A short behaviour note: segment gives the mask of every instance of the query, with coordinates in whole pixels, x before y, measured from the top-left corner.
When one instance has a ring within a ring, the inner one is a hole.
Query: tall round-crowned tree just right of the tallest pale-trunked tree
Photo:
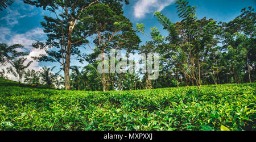
[[[132,29],[132,23],[123,16],[122,11],[116,11],[108,5],[98,3],[90,6],[85,14],[90,17],[83,19],[82,22],[88,24],[88,30],[94,34],[93,43],[96,47],[93,49],[93,55],[101,53],[102,61],[105,60],[105,56],[108,56],[111,49],[132,51],[141,42]],[[110,78],[110,72],[107,75],[105,72],[101,73],[103,91],[109,89]]]

